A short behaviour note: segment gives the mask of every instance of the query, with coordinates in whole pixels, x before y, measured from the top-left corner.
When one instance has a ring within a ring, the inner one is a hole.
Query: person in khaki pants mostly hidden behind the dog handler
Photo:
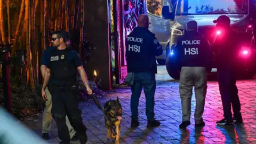
[[[55,39],[55,38],[53,38]],[[53,40],[52,39],[52,40]],[[42,73],[42,77],[44,78],[44,74],[45,71],[47,69],[47,66],[49,65],[48,59],[51,58],[51,51],[57,49],[54,46],[50,46],[48,47],[43,55],[42,55],[42,60],[41,60],[41,73]],[[51,109],[52,109],[52,95],[51,95],[51,90],[50,90],[50,86],[51,85],[51,78],[49,79],[48,85],[45,89],[45,93],[46,93],[46,101],[45,101],[45,108],[44,108],[44,112],[43,112],[43,126],[42,126],[42,137],[45,140],[49,140],[50,136],[49,136],[49,132],[51,130],[52,127],[52,114],[51,114]],[[78,140],[78,134],[76,133],[76,131],[74,130],[74,128],[70,125],[70,122],[68,120],[68,116],[66,116],[66,124],[68,126],[68,131],[69,131],[69,136],[71,138],[71,141],[74,140]]]

